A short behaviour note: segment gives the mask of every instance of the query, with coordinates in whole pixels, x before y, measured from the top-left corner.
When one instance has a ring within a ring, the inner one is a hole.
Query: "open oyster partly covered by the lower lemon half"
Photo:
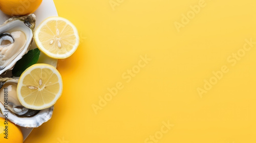
[[[50,120],[53,106],[44,110],[32,110],[24,107],[17,98],[17,79],[0,78],[0,111],[14,124],[35,128]]]

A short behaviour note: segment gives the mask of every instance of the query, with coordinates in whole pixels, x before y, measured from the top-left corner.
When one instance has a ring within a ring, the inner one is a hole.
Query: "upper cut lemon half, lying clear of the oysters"
[[[62,17],[50,17],[35,30],[39,50],[54,59],[70,57],[79,45],[76,27]]]

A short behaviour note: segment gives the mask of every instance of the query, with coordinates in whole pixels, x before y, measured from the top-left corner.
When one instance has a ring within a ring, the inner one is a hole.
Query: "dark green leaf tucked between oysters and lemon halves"
[[[18,60],[12,69],[12,75],[15,77],[20,77],[23,71],[25,71],[28,67],[35,64],[39,59],[40,51],[39,49],[30,50],[27,54],[25,54],[22,59]]]

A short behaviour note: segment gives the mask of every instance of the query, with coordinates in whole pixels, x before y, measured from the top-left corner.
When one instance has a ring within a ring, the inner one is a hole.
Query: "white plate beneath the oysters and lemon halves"
[[[34,12],[34,14],[36,16],[36,26],[38,26],[40,24],[40,22],[45,20],[47,17],[58,16],[58,13],[56,11],[53,0],[44,0],[44,1],[42,1],[42,4]],[[4,23],[9,18],[10,18],[9,16],[5,15],[2,11],[0,11],[0,23],[1,24]],[[37,46],[36,46],[35,42],[33,41],[30,49],[35,49],[36,47]],[[51,64],[55,67],[57,66],[57,60],[56,59],[49,58],[49,57],[47,57],[46,55],[44,55],[42,53],[40,54],[38,63],[47,63],[47,64]],[[2,114],[0,114],[0,116],[3,117]],[[24,140],[28,137],[28,135],[33,130],[33,128],[23,128],[23,127],[20,127],[20,129],[22,129]]]

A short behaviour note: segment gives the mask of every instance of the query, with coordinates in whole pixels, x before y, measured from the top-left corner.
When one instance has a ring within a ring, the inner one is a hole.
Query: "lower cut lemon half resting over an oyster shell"
[[[34,64],[20,76],[17,97],[26,108],[42,110],[56,103],[62,93],[58,70],[49,64]]]

